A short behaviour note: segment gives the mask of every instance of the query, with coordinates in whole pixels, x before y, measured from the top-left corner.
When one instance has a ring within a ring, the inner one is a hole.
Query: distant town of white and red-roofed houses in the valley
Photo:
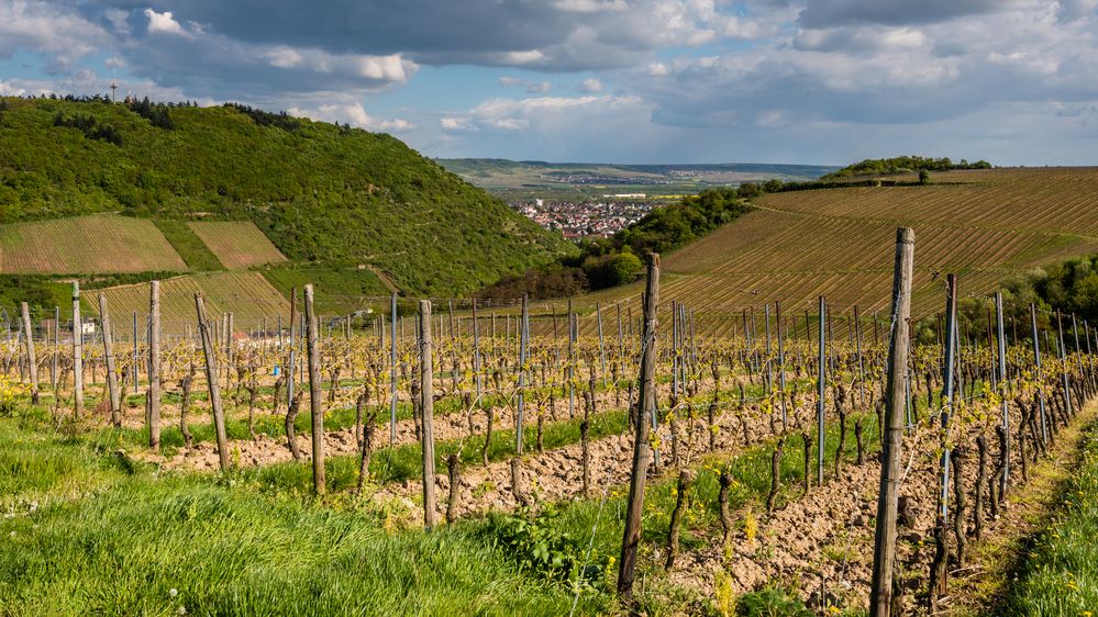
[[[640,221],[655,204],[644,193],[602,195],[599,200],[512,202],[511,207],[566,238],[609,237]]]

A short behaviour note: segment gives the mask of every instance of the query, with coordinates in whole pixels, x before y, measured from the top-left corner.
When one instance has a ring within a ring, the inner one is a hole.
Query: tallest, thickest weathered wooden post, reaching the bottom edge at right
[[[892,324],[888,345],[888,378],[885,386],[885,442],[881,452],[880,489],[877,494],[877,528],[874,537],[873,582],[869,591],[870,617],[890,617],[892,607],[896,517],[903,468],[900,448],[903,440],[903,412],[907,400],[905,377],[908,373],[913,263],[914,232],[909,227],[901,227],[896,232]]]

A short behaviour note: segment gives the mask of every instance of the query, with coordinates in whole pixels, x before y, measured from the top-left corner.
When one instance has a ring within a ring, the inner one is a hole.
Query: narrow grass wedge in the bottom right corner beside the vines
[[[1011,586],[1007,615],[1098,614],[1098,423],[1084,431],[1082,463],[1055,512]]]

